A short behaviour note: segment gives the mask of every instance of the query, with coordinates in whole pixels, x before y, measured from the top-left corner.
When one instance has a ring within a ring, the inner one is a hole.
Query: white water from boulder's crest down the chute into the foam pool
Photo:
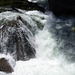
[[[3,14],[6,16],[3,16]],[[23,14],[4,12],[2,13],[2,18],[11,20],[13,18],[15,19],[17,15],[20,15],[31,25],[36,26],[35,21],[37,21],[43,26],[42,30],[37,27],[35,33],[36,58],[28,61],[17,61],[13,73],[6,74],[0,72],[0,75],[75,75],[75,63],[66,61],[65,56],[58,50],[55,37],[49,31],[52,20],[54,19],[53,15],[51,13],[46,15],[39,11],[24,11]]]

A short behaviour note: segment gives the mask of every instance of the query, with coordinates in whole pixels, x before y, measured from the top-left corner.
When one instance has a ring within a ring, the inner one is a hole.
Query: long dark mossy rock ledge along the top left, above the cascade
[[[23,10],[39,10],[44,12],[45,9],[37,3],[29,2],[28,0],[1,0],[0,11],[15,10],[15,8]],[[17,11],[17,10],[15,10]]]

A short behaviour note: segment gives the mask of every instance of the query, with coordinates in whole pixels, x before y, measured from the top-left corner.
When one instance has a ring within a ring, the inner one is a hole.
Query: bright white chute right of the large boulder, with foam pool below
[[[35,11],[34,11],[35,12]],[[31,12],[27,12],[29,15]],[[36,14],[37,16],[40,13]],[[41,15],[40,15],[41,16]],[[40,17],[39,16],[39,17]],[[43,21],[43,30],[37,31],[36,58],[29,61],[17,61],[13,75],[75,75],[75,64],[68,63],[63,54],[59,53],[57,42],[53,34],[49,32],[48,25],[53,19],[52,15],[43,15],[46,19]],[[35,18],[39,20],[38,18]]]

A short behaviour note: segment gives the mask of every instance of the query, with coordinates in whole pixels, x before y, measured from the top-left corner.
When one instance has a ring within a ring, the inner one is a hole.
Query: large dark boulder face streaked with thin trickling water
[[[0,52],[10,53],[16,60],[28,60],[35,57],[34,36],[27,22],[20,16],[16,20],[6,20],[0,27]]]

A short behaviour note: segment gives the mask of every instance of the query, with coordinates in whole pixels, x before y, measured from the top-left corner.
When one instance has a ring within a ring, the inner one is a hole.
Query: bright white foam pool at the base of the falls
[[[16,64],[12,75],[75,75],[75,65],[63,65],[59,60],[31,59]]]

